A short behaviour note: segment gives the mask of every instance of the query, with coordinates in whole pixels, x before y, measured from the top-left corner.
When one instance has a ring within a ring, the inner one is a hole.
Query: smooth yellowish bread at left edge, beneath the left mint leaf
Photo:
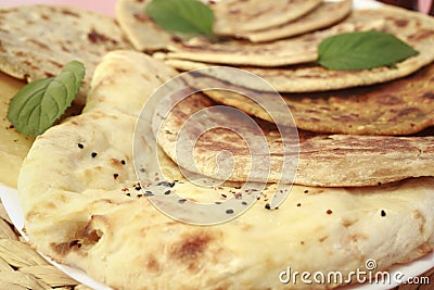
[[[24,86],[24,81],[0,73],[0,184],[16,187],[18,172],[34,138],[18,134],[8,121],[11,98]]]

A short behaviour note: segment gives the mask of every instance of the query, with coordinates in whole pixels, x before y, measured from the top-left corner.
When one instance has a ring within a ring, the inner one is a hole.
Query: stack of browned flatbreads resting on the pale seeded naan
[[[241,9],[243,5],[248,9]],[[140,13],[142,9],[143,3],[130,0],[122,0],[117,5],[118,21],[137,49],[152,51],[156,47],[164,48],[167,52],[154,55],[181,71],[216,64],[238,66],[261,77],[282,93],[295,125],[301,129],[296,184],[372,186],[406,177],[433,175],[434,168],[430,165],[432,137],[409,137],[432,126],[434,122],[433,99],[430,97],[433,93],[434,70],[431,65],[434,60],[432,17],[388,5],[353,10],[352,1],[345,0],[278,1],[272,4],[253,0],[242,3],[218,1],[212,4],[216,15],[214,30],[226,38],[218,41],[193,38],[187,42],[167,38],[158,46],[151,47],[141,39],[143,34],[139,31],[159,28],[144,21],[145,16]],[[288,9],[292,13],[288,13]],[[371,29],[397,36],[417,49],[419,54],[394,67],[361,71],[332,71],[315,63],[318,43],[326,37]],[[267,122],[279,123],[248,96],[237,93],[243,91],[254,94],[264,90],[257,83],[218,67],[202,70],[197,74],[202,76],[194,78],[191,86],[227,90],[207,90],[195,99],[186,100],[183,105],[179,105],[180,113],[169,116],[169,125],[158,142],[173,160],[176,161],[176,133],[180,131],[190,115],[213,106],[213,101]],[[381,85],[372,86],[374,84]],[[273,98],[272,91],[260,93],[264,99]],[[284,123],[288,118],[282,116],[280,119]],[[277,168],[282,165],[284,154],[281,141],[275,134],[276,128],[266,131],[273,156],[271,173],[258,177],[256,181],[276,182],[281,178]],[[212,175],[217,165],[212,164],[210,156],[220,147],[231,149],[231,152],[235,150],[239,164],[245,164],[250,152],[238,150],[245,143],[234,142],[233,136],[221,138],[224,133],[216,136],[220,138],[213,139],[209,136],[212,140],[204,142],[201,150],[197,149],[201,157],[196,159],[197,164],[192,164],[188,169]],[[219,146],[216,147],[216,142]],[[367,168],[369,162],[371,166]],[[240,165],[240,169],[235,168],[229,177],[230,180],[246,180],[250,168]],[[334,174],[330,175],[330,172]]]

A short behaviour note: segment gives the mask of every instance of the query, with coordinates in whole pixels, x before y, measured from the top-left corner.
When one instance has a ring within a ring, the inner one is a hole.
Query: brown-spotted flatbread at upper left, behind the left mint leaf
[[[82,62],[86,76],[79,104],[85,103],[101,56],[130,48],[112,17],[50,5],[0,9],[0,70],[27,81],[56,75],[72,60]]]

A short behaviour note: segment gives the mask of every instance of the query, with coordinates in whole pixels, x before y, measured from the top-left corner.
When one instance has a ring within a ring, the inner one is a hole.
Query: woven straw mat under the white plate
[[[434,268],[421,275],[430,285],[405,285],[394,290],[433,290]],[[34,251],[12,225],[0,203],[0,289],[8,290],[89,290],[55,268]]]

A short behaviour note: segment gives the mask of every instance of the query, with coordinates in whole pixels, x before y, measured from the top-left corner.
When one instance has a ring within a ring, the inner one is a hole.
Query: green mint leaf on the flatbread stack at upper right
[[[391,34],[344,33],[328,37],[319,43],[318,63],[330,70],[370,70],[394,65],[418,53]]]

